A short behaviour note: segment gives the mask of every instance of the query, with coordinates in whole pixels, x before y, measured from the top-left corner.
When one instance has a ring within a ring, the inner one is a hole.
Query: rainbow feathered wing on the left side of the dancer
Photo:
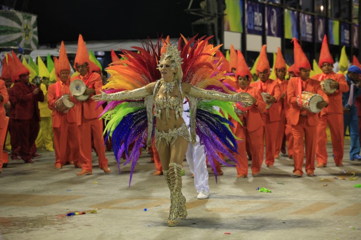
[[[143,47],[133,47],[135,51],[122,50],[121,59],[107,68],[111,77],[103,87],[105,93],[116,93],[143,87],[160,78],[157,70],[161,51],[161,38],[153,45],[148,40]],[[102,104],[104,102],[99,102]],[[146,103],[142,101],[111,101],[104,108],[101,117],[106,121],[106,139],[112,139],[113,151],[120,172],[120,159],[125,154],[124,165],[132,163],[129,185],[140,149],[146,145],[148,119]],[[150,132],[151,133],[151,132]]]

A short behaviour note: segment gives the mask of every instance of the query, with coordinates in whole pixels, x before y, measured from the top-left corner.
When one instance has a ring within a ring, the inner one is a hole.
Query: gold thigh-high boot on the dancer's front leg
[[[171,208],[169,210],[168,226],[174,227],[178,225],[178,217],[184,219],[186,216],[185,198],[181,193],[181,165],[171,163],[169,165],[169,176],[171,180]]]

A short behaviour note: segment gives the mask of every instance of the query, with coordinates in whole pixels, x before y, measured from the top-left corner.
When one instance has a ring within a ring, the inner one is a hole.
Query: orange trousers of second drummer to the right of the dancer
[[[266,165],[273,166],[274,153],[276,151],[277,132],[280,121],[271,122],[270,114],[265,114],[265,115],[266,115],[266,125],[265,125]],[[253,155],[252,155],[252,159],[253,159]]]

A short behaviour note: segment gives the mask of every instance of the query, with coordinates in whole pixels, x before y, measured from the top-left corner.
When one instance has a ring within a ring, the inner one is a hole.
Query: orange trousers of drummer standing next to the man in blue
[[[327,164],[327,124],[330,126],[333,158],[336,165],[342,164],[344,156],[344,119],[343,114],[324,114],[319,118],[317,126],[316,161]]]

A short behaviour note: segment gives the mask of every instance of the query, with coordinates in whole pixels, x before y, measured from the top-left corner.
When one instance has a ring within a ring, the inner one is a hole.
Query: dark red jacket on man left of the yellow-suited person
[[[33,91],[37,88],[32,83],[16,82],[12,87],[15,104],[15,119],[30,120],[35,114],[38,121],[40,121],[40,112],[38,103],[44,102],[43,91],[40,90],[37,95]]]

